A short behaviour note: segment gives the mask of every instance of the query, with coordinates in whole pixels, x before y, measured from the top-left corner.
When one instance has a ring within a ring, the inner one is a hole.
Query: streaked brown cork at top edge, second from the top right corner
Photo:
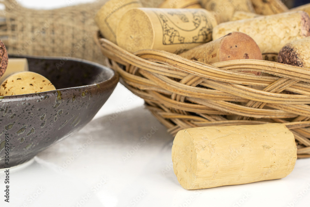
[[[281,0],[251,0],[255,13],[261,15],[272,15],[288,11]]]

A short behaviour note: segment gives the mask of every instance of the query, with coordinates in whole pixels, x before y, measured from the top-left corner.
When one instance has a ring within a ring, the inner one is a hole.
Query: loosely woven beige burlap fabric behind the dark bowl
[[[9,54],[77,57],[105,65],[93,34],[98,30],[94,16],[108,0],[35,10],[15,0],[0,0],[0,39]],[[162,0],[142,0],[145,7],[156,7]]]

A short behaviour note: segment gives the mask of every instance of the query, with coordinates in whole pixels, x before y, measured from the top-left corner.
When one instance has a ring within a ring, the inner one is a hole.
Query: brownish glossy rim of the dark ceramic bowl
[[[44,59],[48,59],[48,60],[70,60],[70,61],[77,61],[77,62],[82,62],[85,64],[89,64],[89,65],[94,65],[97,66],[103,70],[108,70],[110,72],[112,72],[111,77],[109,77],[108,79],[98,82],[98,83],[93,83],[90,85],[83,85],[83,86],[78,86],[78,87],[70,87],[70,88],[61,88],[61,89],[56,89],[56,90],[51,90],[51,91],[45,91],[45,92],[37,92],[37,93],[26,93],[26,94],[20,94],[20,95],[12,95],[12,96],[0,96],[0,103],[5,101],[5,100],[10,100],[10,101],[20,101],[20,99],[23,98],[29,98],[29,95],[54,95],[57,94],[57,91],[60,92],[64,92],[68,89],[81,89],[81,88],[93,88],[94,86],[99,86],[100,91],[105,91],[108,90],[109,88],[112,88],[114,86],[116,86],[116,84],[118,83],[119,80],[119,75],[110,67],[105,66],[105,65],[101,65],[99,63],[95,63],[92,61],[87,61],[84,59],[80,59],[80,58],[75,58],[75,57],[61,57],[61,56],[33,56],[33,55],[14,55],[14,54],[9,54],[9,58],[34,58],[34,59],[39,59],[39,60],[44,60]],[[105,89],[105,90],[102,90]],[[27,95],[27,97],[25,97],[25,95]]]

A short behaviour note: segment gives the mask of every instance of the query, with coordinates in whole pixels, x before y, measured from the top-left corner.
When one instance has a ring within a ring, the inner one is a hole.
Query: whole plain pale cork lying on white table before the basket
[[[294,135],[282,124],[184,129],[172,146],[175,175],[188,190],[284,178],[296,159]]]

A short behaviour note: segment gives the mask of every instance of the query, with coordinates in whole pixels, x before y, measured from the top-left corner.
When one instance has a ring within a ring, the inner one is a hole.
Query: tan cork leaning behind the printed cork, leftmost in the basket
[[[116,30],[122,15],[131,8],[143,7],[139,0],[110,0],[95,16],[95,22],[104,38],[116,44]]]

